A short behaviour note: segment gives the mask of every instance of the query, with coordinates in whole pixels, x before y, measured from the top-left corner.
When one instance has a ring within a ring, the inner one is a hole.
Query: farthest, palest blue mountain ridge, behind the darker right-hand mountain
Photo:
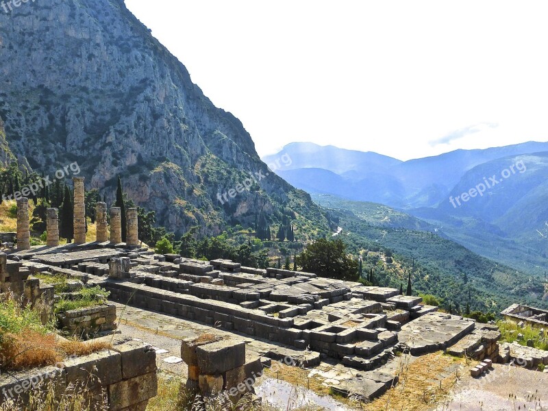
[[[511,155],[548,151],[548,142],[484,150],[456,150],[434,157],[401,162],[377,153],[291,143],[265,162],[282,155],[290,166],[276,170],[290,184],[310,192],[338,195],[412,209],[433,207],[447,199],[461,177],[475,166]],[[325,171],[336,174],[325,179]]]

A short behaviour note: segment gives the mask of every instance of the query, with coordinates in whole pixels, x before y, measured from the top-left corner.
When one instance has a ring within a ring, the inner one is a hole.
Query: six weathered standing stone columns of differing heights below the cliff
[[[74,242],[86,242],[86,205],[84,202],[84,177],[74,177]],[[47,216],[47,246],[59,245],[59,217],[57,208],[48,208]],[[107,205],[99,202],[95,209],[97,221],[97,242],[108,241]],[[127,236],[126,245],[138,246],[138,216],[136,208],[129,208],[126,213]],[[122,212],[119,207],[110,208],[110,243],[122,242]],[[29,199],[17,200],[17,249],[30,249]]]

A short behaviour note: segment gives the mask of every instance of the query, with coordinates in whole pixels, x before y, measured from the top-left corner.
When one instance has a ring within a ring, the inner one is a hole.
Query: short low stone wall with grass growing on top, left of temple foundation
[[[57,314],[58,327],[68,336],[88,336],[116,329],[116,306],[103,304],[97,307],[70,310]]]

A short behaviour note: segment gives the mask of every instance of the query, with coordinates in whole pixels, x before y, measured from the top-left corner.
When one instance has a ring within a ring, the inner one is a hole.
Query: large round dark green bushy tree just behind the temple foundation
[[[358,262],[347,255],[346,245],[340,238],[320,238],[312,242],[297,257],[297,262],[303,271],[315,273],[320,277],[349,281],[358,279]]]

